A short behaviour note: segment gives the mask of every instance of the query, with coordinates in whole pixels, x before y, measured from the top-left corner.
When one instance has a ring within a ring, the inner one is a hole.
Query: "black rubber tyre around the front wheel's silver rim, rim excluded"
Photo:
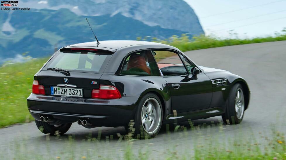
[[[245,109],[244,106],[242,109],[243,110],[242,111],[242,117],[238,118],[237,113],[235,111],[235,97],[236,97],[238,90],[241,90],[242,95],[243,95],[243,88],[242,88],[241,84],[236,83],[230,91],[228,101],[227,101],[226,111],[222,115],[223,122],[225,124],[231,124],[231,125],[239,124],[242,121],[242,118],[244,116],[244,109]],[[244,95],[242,96],[242,100],[243,100],[243,105],[245,105]]]

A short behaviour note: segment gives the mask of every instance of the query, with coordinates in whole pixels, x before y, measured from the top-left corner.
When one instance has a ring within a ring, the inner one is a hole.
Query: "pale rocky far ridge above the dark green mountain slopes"
[[[23,3],[23,4],[22,4]],[[24,0],[20,5],[32,8],[68,8],[77,15],[116,15],[190,34],[203,34],[194,10],[183,0]]]

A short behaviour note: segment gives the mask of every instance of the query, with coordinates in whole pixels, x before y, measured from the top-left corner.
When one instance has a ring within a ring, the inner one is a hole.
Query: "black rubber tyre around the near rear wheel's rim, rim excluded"
[[[158,122],[158,125],[156,125],[156,123],[154,122],[155,125],[158,126],[158,127],[155,127],[156,129],[154,129],[154,133],[152,133],[152,134],[149,134],[149,133],[147,133],[147,131],[145,131],[145,129],[143,128],[142,119],[141,119],[142,118],[141,114],[142,114],[143,105],[150,98],[156,99],[156,101],[159,104],[160,111],[161,111],[161,117],[157,119],[157,120],[160,119],[160,121]],[[144,95],[142,97],[141,101],[139,102],[139,105],[137,107],[137,111],[135,112],[135,117],[134,117],[135,133],[134,133],[134,136],[137,137],[137,138],[142,138],[142,139],[146,138],[146,136],[149,137],[149,138],[155,137],[159,133],[159,131],[161,129],[162,121],[163,121],[163,109],[162,109],[162,104],[161,104],[161,101],[160,101],[159,97],[157,95],[153,94],[153,93],[149,93],[147,95]]]

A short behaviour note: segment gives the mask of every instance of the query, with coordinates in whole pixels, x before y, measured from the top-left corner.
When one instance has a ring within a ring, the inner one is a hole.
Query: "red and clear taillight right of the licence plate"
[[[92,90],[91,97],[96,99],[118,99],[121,98],[121,94],[114,86],[100,85],[99,89]]]

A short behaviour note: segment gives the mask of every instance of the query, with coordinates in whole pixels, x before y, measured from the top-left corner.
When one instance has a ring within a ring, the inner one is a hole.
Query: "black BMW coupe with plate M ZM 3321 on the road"
[[[249,99],[242,77],[198,66],[175,47],[116,40],[59,49],[35,74],[27,106],[45,134],[134,120],[135,134],[154,137],[175,121],[221,115],[238,124]]]

